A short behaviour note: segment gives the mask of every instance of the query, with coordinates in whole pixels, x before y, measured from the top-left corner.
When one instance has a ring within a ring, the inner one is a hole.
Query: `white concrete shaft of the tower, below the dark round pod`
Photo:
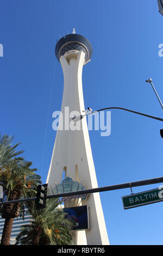
[[[69,40],[72,44],[71,39]],[[64,121],[63,130],[58,129],[55,138],[46,181],[48,188],[54,187],[54,182],[57,184],[61,182],[63,172],[66,177],[74,178],[76,181],[82,179],[82,182],[85,181],[89,188],[98,187],[86,118],[77,123],[72,121],[74,111],[77,111],[77,114],[82,114],[85,109],[82,71],[83,65],[88,60],[86,54],[80,48],[78,50],[75,48],[59,56],[64,73],[64,93],[61,106],[63,119],[60,115],[59,127],[62,126],[62,120],[66,120],[66,123]],[[70,113],[71,115],[69,115]],[[76,245],[109,245],[99,193],[90,194],[85,204],[89,205],[90,230],[76,232]]]

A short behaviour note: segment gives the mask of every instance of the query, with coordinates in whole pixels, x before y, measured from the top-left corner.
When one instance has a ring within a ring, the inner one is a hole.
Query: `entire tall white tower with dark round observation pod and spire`
[[[48,191],[52,194],[96,188],[98,184],[86,118],[77,122],[72,120],[74,115],[82,114],[85,109],[82,71],[91,60],[92,46],[73,29],[72,34],[57,42],[55,56],[64,73],[64,92],[60,117],[55,119],[59,124],[46,181]],[[109,245],[99,193],[69,198],[64,201],[64,209],[70,218],[75,216],[74,245]]]

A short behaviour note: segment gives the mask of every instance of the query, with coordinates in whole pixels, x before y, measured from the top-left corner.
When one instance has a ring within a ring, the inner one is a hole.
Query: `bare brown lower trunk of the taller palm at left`
[[[9,245],[10,244],[10,236],[11,236],[13,221],[14,221],[14,218],[5,218],[2,239],[1,239],[1,245]]]

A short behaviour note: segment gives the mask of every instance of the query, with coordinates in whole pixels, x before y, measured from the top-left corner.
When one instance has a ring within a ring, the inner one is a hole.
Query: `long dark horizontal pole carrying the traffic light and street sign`
[[[103,191],[120,190],[122,188],[145,186],[145,185],[151,185],[151,184],[156,184],[161,182],[163,182],[163,177],[148,179],[148,180],[133,181],[133,182],[123,183],[118,185],[111,185],[106,187],[90,188],[89,190],[80,190],[80,191],[66,192],[66,193],[60,193],[60,194],[52,194],[47,196],[46,198],[51,199],[51,198],[59,198],[59,197],[70,197],[70,196],[76,196],[78,194],[90,194],[90,193],[103,192]],[[16,203],[33,201],[33,200],[36,200],[36,197],[12,200],[8,202],[1,202],[0,205],[16,204]]]

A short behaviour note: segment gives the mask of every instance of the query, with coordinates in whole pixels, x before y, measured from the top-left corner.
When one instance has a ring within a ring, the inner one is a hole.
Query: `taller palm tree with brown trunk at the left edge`
[[[35,174],[36,169],[30,169],[32,162],[21,159],[11,159],[5,161],[0,168],[0,184],[6,191],[7,200],[33,197],[37,185],[41,184],[40,176]],[[12,224],[14,218],[21,214],[21,205],[6,204],[2,206],[1,215],[5,218],[2,233],[1,245],[9,245]]]

